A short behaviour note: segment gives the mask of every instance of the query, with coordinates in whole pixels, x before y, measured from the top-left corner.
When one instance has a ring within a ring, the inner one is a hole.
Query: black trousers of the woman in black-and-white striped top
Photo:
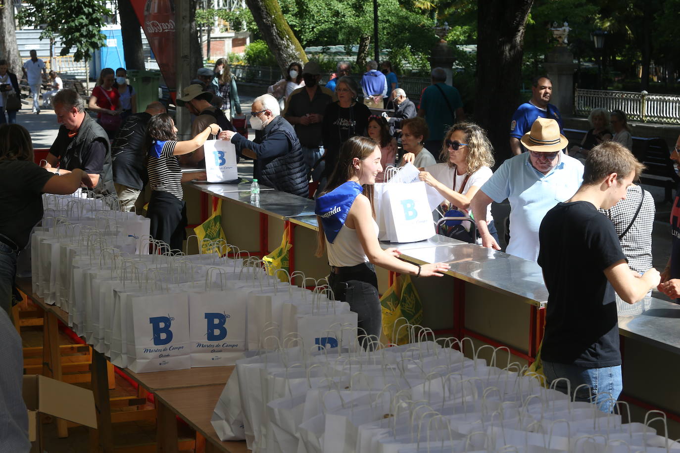
[[[170,250],[182,250],[186,238],[186,203],[169,192],[152,191],[146,217],[151,219],[150,234],[169,244]],[[167,252],[163,247],[163,253]]]

